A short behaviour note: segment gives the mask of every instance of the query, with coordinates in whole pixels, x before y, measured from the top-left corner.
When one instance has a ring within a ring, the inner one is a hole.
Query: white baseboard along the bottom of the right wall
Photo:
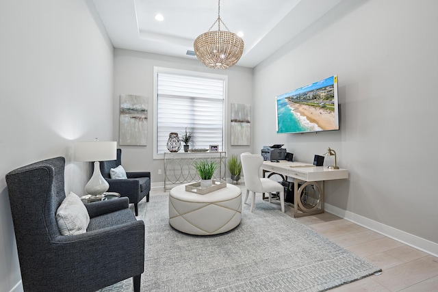
[[[438,256],[438,243],[423,239],[421,237],[417,237],[416,235],[411,235],[410,233],[404,232],[391,226],[387,226],[380,222],[376,222],[367,217],[357,215],[350,211],[340,209],[331,204],[324,204],[324,208],[325,211],[328,213],[332,213],[333,215],[337,215],[350,222],[373,230],[376,233],[380,233],[381,235],[385,235],[386,237],[410,245],[411,247],[416,248],[417,250],[421,250],[422,252],[426,252],[432,256]]]

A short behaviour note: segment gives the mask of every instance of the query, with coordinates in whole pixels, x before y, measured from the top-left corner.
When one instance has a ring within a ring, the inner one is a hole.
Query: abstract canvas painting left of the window
[[[121,94],[120,145],[146,146],[148,130],[148,99],[146,96]]]

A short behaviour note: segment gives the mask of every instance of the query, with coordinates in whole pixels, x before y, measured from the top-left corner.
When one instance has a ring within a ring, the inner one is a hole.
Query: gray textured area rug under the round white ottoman
[[[140,203],[142,291],[325,291],[381,271],[257,197],[239,226],[207,237],[169,225],[168,194]],[[132,279],[101,291],[132,291]]]

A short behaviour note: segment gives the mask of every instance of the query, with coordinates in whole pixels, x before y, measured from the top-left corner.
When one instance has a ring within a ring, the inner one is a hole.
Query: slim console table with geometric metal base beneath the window
[[[193,162],[208,159],[219,163],[214,179],[225,180],[227,170],[227,152],[164,152],[164,189],[170,189],[181,183],[198,181]]]

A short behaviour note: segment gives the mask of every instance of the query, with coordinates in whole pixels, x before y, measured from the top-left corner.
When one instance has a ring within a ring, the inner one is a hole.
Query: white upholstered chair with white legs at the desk
[[[242,161],[242,170],[244,172],[244,180],[246,186],[245,204],[248,200],[249,192],[253,192],[253,200],[251,201],[250,211],[253,212],[255,193],[268,193],[269,202],[271,202],[271,193],[280,193],[281,211],[285,211],[285,197],[284,188],[281,183],[272,181],[270,178],[261,178],[259,176],[260,166],[263,163],[263,157],[261,155],[253,155],[251,153],[242,153],[240,155],[240,161]]]

